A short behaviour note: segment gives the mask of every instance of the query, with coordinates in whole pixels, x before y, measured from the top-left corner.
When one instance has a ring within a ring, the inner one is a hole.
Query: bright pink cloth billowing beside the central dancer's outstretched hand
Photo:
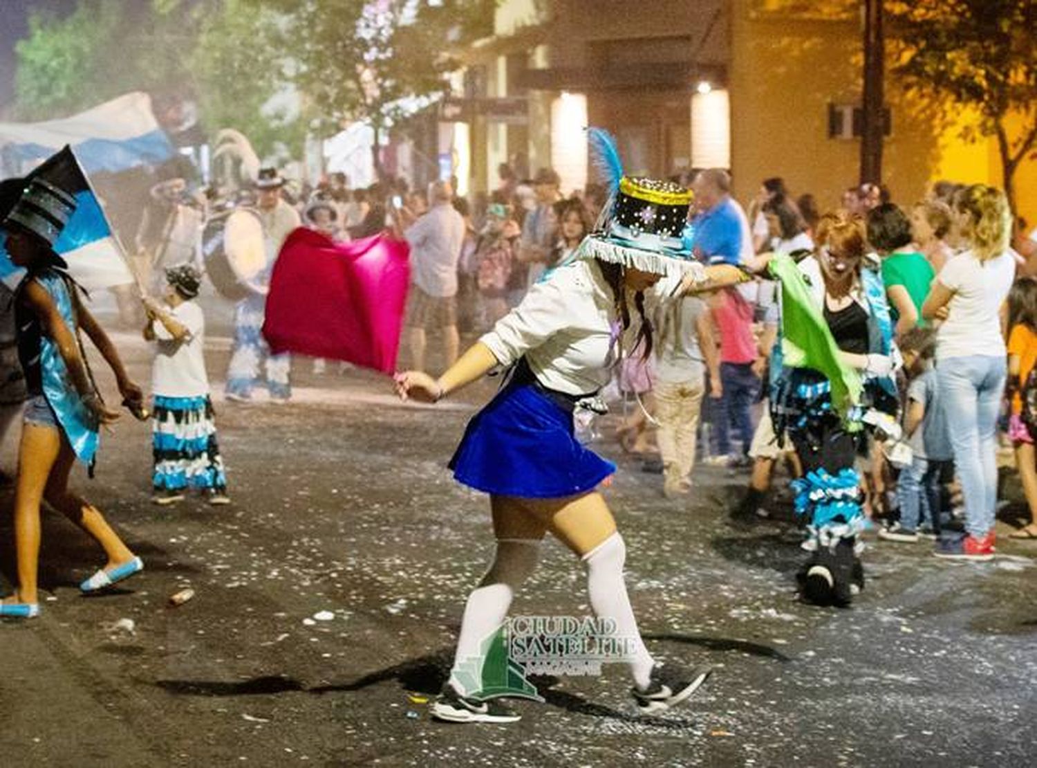
[[[335,243],[300,227],[281,246],[262,333],[275,353],[345,360],[392,374],[407,290],[405,241]]]

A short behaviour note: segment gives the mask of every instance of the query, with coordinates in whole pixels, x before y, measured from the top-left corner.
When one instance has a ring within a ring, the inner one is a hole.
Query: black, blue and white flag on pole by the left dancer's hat
[[[134,282],[122,249],[72,148],[65,146],[38,165],[25,177],[25,186],[33,179],[50,182],[76,198],[76,211],[54,243],[55,252],[68,263],[68,273],[76,281],[88,291]],[[13,290],[25,270],[11,263],[5,240],[0,227],[0,280]]]

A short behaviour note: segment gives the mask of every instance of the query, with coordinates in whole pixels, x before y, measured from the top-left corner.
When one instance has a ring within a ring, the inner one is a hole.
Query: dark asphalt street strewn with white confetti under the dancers
[[[116,340],[146,384],[146,345]],[[227,347],[207,346],[217,392]],[[297,361],[286,406],[216,395],[227,508],[152,505],[147,427],[127,416],[104,437],[96,478],[77,469],[75,487],[146,570],[81,597],[102,555],[46,515],[43,615],[0,625],[0,765],[1034,764],[1037,543],[1003,537],[999,557],[976,565],[872,540],[851,608],[804,605],[794,528],[725,523],[744,471],[697,469],[692,496],[666,500],[662,478],[610,439],[615,415],[596,448],[619,464],[607,495],[641,629],[658,658],[716,674],[663,716],[638,717],[624,667],[610,664],[533,678],[545,701],[517,702],[517,723],[432,721],[493,552],[485,497],[445,465],[496,385],[423,407],[394,401],[384,377],[336,367],[317,377]],[[185,587],[194,599],[171,607]],[[588,615],[580,561],[549,542],[513,612]]]

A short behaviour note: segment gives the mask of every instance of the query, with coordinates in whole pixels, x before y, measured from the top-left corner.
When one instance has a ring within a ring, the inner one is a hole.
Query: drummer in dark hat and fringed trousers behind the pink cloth
[[[227,366],[225,396],[228,401],[248,403],[252,388],[259,381],[259,366],[265,361],[267,389],[272,403],[287,403],[291,397],[288,375],[291,357],[270,354],[262,337],[262,323],[271,272],[285,238],[301,223],[296,210],[281,198],[284,179],[276,168],[260,168],[256,181],[256,204],[265,239],[267,268],[248,281],[252,295],[234,307],[234,348]]]

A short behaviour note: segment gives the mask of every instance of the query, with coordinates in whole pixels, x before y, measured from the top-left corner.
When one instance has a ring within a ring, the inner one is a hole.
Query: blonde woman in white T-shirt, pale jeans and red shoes
[[[998,500],[997,420],[1005,387],[1006,348],[1001,311],[1015,277],[1008,247],[1012,217],[1005,194],[983,184],[956,195],[955,224],[965,250],[933,280],[922,317],[946,308],[936,338],[936,377],[965,504],[965,536],[943,540],[935,555],[993,557]]]

